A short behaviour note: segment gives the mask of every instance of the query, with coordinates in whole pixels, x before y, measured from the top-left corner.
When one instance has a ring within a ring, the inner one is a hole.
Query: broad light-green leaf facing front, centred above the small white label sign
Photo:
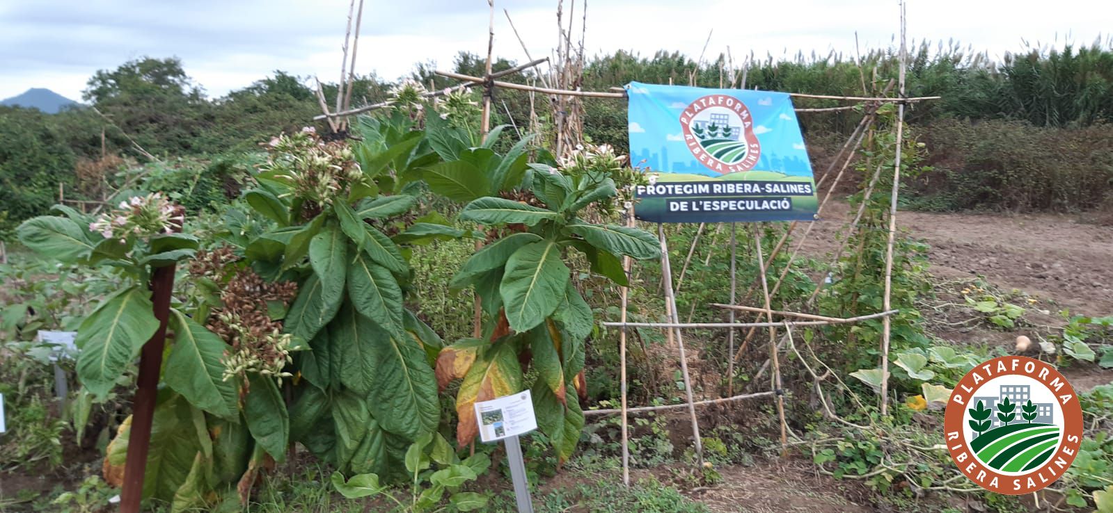
[[[531,242],[511,254],[499,286],[510,328],[524,332],[541,324],[564,300],[568,282],[554,241]]]

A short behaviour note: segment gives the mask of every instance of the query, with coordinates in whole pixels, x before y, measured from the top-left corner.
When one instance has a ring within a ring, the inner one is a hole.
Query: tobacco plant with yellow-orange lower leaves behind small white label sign
[[[617,194],[608,167],[563,174],[545,163],[526,165],[524,142],[505,158],[482,150],[460,150],[456,161],[425,174],[434,192],[469,201],[461,221],[489,229],[487,244],[451,283],[453,289],[474,288],[485,316],[484,338],[464,339],[440,352],[439,384],[443,389],[454,379],[463,380],[456,394],[460,445],[477,434],[476,401],[531,386],[538,424],[563,462],[583,428],[575,392],[585,393],[583,344],[594,325],[590,306],[571,281],[570,264],[577,260],[570,252],[582,253],[593,272],[624,284],[619,255],[659,258],[659,243],[643,230],[584,220],[595,203]],[[473,178],[445,179],[457,172]],[[536,378],[525,383],[530,366]]]

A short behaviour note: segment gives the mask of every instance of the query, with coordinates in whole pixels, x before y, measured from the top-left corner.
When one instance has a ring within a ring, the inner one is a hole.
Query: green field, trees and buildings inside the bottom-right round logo
[[[1013,394],[1003,392],[999,399],[975,398],[977,403],[967,410],[969,428],[976,433],[969,445],[974,455],[991,469],[1027,472],[1040,467],[1055,454],[1062,429],[1053,423],[1050,404],[1033,403],[1032,400],[1018,404],[1009,395]],[[1024,395],[1027,395],[1026,391]],[[989,408],[986,408],[987,402]]]

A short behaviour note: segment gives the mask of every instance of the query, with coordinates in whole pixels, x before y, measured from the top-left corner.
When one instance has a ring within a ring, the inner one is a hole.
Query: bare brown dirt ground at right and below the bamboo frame
[[[802,252],[828,260],[829,253],[838,248],[836,234],[845,230],[853,217],[846,202],[833,199],[825,207],[824,219],[811,229]],[[1027,325],[1018,331],[984,325],[953,328],[925,314],[928,330],[946,340],[1012,349],[1016,335],[1025,330],[1047,333],[1063,325],[1058,310],[1086,315],[1113,314],[1113,227],[1054,214],[905,211],[898,212],[897,224],[930,247],[929,272],[937,280],[981,275],[1001,290],[1018,289],[1038,300],[1025,313]],[[798,233],[806,228],[800,227]],[[948,298],[946,291],[937,292],[940,295],[937,301],[961,300]],[[1080,391],[1113,382],[1113,370],[1092,364],[1072,364],[1064,373]],[[720,484],[684,492],[715,512],[875,511],[860,486],[818,474],[807,462],[768,461],[718,470],[723,477]]]

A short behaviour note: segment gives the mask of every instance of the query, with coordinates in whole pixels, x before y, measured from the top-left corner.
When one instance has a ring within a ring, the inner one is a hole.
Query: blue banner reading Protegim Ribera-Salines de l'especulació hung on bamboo
[[[787,93],[631,82],[630,161],[648,168],[638,219],[815,219],[811,163]]]

